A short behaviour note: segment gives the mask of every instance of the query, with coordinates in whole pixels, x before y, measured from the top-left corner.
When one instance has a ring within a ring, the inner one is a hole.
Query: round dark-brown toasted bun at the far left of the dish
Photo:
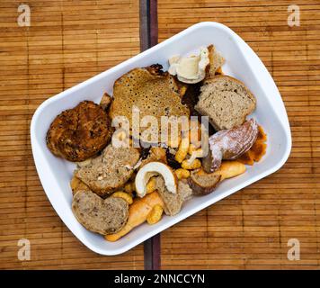
[[[83,101],[52,121],[47,146],[58,157],[84,161],[109,143],[112,131],[107,112],[92,101]]]

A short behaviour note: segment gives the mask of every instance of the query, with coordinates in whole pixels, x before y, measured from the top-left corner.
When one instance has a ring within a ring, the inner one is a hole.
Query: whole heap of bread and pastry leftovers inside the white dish
[[[176,215],[191,197],[213,193],[262,158],[266,134],[247,117],[256,98],[223,74],[224,62],[210,45],[198,55],[173,56],[168,71],[159,64],[137,67],[116,80],[112,96],[81,102],[51,123],[48,148],[76,163],[71,206],[86,229],[116,241],[146,221]],[[178,134],[166,127],[170,137],[163,139],[140,123],[149,116],[160,130],[164,117],[184,117],[190,125],[178,125]],[[198,117],[195,125],[191,116]],[[208,117],[209,129],[200,116]]]

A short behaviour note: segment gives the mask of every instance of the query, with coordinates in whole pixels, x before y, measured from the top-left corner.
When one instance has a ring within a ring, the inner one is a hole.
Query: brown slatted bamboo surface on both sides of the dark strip
[[[30,121],[45,99],[139,52],[139,2],[0,1],[0,268],[143,269],[143,245],[116,257],[84,247],[51,207],[35,170]],[[300,26],[287,24],[298,4]],[[286,104],[293,147],[280,171],[161,234],[163,269],[320,267],[320,3],[158,0],[158,39],[193,23],[236,31],[262,58]],[[212,40],[214,43],[214,39]],[[31,240],[31,260],[17,242]],[[300,260],[287,258],[298,238]]]

